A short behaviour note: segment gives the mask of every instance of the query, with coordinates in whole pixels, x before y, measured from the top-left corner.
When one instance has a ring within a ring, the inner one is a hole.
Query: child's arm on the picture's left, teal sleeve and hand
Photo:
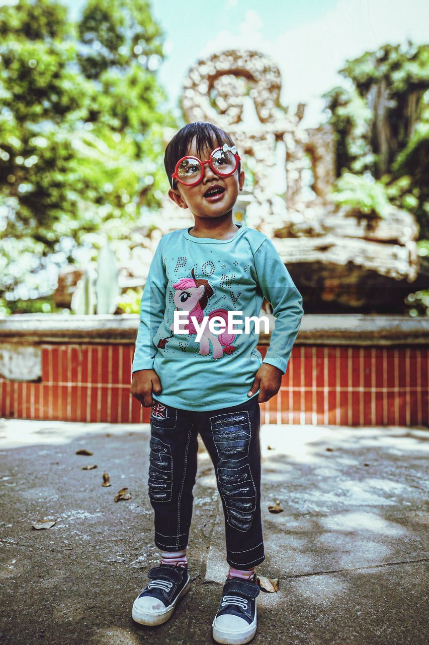
[[[153,370],[157,347],[152,339],[158,331],[166,309],[167,275],[162,261],[164,238],[161,238],[153,255],[148,279],[140,301],[140,323],[138,324],[133,359],[131,394],[148,407],[152,404],[152,392],[162,391],[159,377]]]

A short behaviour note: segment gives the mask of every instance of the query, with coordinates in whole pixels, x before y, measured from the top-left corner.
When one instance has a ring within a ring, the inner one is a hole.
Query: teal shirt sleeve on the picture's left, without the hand
[[[163,247],[164,241],[161,238],[153,255],[140,301],[140,323],[138,323],[135,353],[131,367],[133,373],[138,370],[151,370],[157,354],[157,347],[152,339],[164,319],[168,284],[162,261]]]

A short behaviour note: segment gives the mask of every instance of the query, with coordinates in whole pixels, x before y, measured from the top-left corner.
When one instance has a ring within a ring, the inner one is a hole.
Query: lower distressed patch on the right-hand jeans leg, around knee
[[[218,467],[216,475],[229,526],[238,531],[248,531],[256,511],[256,486],[249,464],[240,468]]]

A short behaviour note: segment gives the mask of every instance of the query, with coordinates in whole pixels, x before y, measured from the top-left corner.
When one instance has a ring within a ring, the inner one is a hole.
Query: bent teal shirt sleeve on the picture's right
[[[259,286],[276,317],[270,346],[262,362],[274,365],[284,374],[304,313],[302,296],[269,238],[254,253],[254,261]]]

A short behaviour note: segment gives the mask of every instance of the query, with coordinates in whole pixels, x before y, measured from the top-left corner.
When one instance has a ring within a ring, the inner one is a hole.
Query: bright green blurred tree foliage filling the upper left
[[[89,0],[76,24],[55,0],[0,7],[0,296],[49,293],[48,256],[160,203],[163,39],[147,0]]]

